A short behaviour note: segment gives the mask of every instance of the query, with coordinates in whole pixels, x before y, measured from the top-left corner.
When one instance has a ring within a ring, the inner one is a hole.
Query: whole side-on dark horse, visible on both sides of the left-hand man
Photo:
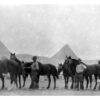
[[[23,67],[24,67],[24,84],[23,86],[25,86],[25,81],[28,75],[31,76],[31,65],[33,62],[25,62],[23,63]],[[44,76],[47,75],[48,80],[49,80],[49,84],[48,84],[48,88],[50,88],[50,83],[51,83],[51,75],[53,76],[54,79],[54,88],[56,88],[56,78],[58,78],[58,73],[57,73],[57,69],[54,65],[52,64],[42,64],[40,62],[38,62],[38,66],[39,66],[39,70],[37,71],[38,75],[37,75],[37,81],[39,83],[39,78],[40,76]]]

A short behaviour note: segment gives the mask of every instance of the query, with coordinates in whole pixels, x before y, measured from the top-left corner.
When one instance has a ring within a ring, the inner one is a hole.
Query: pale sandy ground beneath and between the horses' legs
[[[26,81],[26,86],[22,89],[17,89],[14,87],[9,89],[11,87],[9,80],[5,80],[5,89],[0,90],[0,95],[7,96],[41,96],[41,95],[52,95],[52,96],[95,96],[95,95],[100,95],[100,91],[97,89],[93,91],[92,89],[85,89],[84,91],[77,91],[77,90],[71,90],[69,89],[64,89],[64,80],[57,80],[57,89],[53,89],[53,81],[51,83],[51,87],[49,90],[46,89],[48,85],[48,81],[40,81],[40,88],[38,90],[30,90],[28,89],[30,85],[30,79],[27,79]],[[94,85],[94,83],[93,83]],[[1,81],[0,81],[0,86],[1,86]],[[70,83],[69,83],[70,87]],[[8,90],[9,89],[9,90]]]

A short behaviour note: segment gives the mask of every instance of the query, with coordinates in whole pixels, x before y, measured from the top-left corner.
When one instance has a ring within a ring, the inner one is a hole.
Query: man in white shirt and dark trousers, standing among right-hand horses
[[[79,88],[83,90],[84,89],[84,86],[83,86],[83,80],[84,80],[83,72],[86,69],[86,66],[81,63],[80,59],[78,59],[78,61],[79,61],[79,64],[76,66],[76,74],[75,74],[75,82],[76,82],[75,87],[78,90],[79,90]]]

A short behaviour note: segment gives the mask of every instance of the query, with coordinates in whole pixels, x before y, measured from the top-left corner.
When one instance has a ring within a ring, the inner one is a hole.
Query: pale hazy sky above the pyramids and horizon
[[[16,53],[52,56],[69,44],[100,59],[100,6],[0,5],[0,40]]]

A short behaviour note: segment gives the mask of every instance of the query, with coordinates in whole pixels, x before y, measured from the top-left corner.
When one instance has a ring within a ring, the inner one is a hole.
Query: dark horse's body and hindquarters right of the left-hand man
[[[39,70],[37,71],[37,82],[39,84],[39,78],[40,76],[47,76],[48,77],[48,86],[47,89],[50,88],[50,83],[51,83],[51,75],[53,76],[54,80],[54,89],[56,88],[56,78],[58,79],[58,73],[57,69],[54,65],[52,64],[42,64],[41,62],[38,62]]]

